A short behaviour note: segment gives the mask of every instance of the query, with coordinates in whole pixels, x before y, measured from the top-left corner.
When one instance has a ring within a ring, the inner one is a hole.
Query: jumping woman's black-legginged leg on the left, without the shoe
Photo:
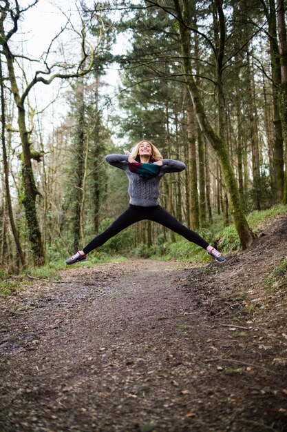
[[[120,231],[124,230],[128,226],[138,222],[142,219],[142,213],[140,212],[140,208],[137,206],[129,206],[124,213],[122,213],[103,233],[100,233],[92,242],[89,242],[85,248],[83,248],[83,252],[85,254],[93,251],[98,246],[102,246],[108,239],[114,237],[114,235],[120,233]]]

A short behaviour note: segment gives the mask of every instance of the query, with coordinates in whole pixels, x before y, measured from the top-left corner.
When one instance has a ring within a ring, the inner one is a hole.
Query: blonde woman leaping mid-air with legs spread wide
[[[82,251],[78,251],[67,259],[66,264],[70,265],[84,261],[87,259],[87,253],[107,242],[108,239],[114,237],[127,226],[143,219],[158,222],[182,235],[189,242],[202,246],[215,261],[225,261],[225,257],[220,252],[210,246],[200,235],[180,224],[175,217],[167,213],[158,204],[160,179],[166,173],[178,173],[184,170],[186,166],[182,162],[162,159],[158,149],[149,141],[140,141],[131,150],[130,155],[107,155],[105,160],[109,164],[124,170],[127,177],[129,177],[128,193],[131,197],[129,208],[107,230],[97,235],[92,242],[87,244]]]

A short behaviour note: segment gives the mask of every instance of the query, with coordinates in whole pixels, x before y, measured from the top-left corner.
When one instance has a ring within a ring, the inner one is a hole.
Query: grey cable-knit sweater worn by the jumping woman
[[[131,199],[129,204],[134,206],[151,207],[158,206],[158,196],[160,195],[160,179],[166,173],[179,173],[183,171],[186,166],[180,161],[173,161],[171,159],[162,159],[162,166],[160,172],[151,179],[143,179],[137,173],[132,173],[129,169],[127,159],[128,155],[107,155],[105,160],[117,168],[124,170],[129,177],[128,193]]]

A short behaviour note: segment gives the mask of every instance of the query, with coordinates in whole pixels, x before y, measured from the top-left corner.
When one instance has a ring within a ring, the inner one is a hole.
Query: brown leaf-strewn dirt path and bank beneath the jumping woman
[[[1,299],[1,432],[287,431],[287,217],[204,267],[135,260]]]

